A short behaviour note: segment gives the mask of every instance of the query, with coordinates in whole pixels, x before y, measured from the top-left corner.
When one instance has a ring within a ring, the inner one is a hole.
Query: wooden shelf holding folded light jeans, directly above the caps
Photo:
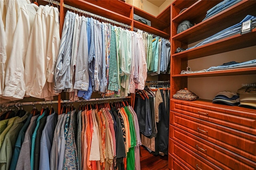
[[[219,71],[208,71],[204,73],[191,73],[191,74],[176,74],[172,77],[214,77],[214,76],[228,76],[228,75],[249,75],[256,74],[256,67],[247,67],[240,69],[226,69]]]

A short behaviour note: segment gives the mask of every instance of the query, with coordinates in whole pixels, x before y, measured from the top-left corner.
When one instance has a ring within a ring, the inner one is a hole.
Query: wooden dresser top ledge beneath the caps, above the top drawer
[[[181,101],[179,99],[174,99],[171,98],[171,100],[173,101]],[[216,109],[223,109],[226,111],[239,111],[241,113],[251,113],[255,115],[256,110],[254,109],[248,109],[248,108],[244,108],[244,107],[240,107],[240,106],[228,106],[228,105],[220,105],[220,104],[215,104],[212,103],[212,100],[205,100],[205,99],[197,99],[195,101],[186,101],[186,102],[191,102],[191,103],[196,103],[196,104],[200,104],[200,105],[205,105],[205,106],[210,106]]]

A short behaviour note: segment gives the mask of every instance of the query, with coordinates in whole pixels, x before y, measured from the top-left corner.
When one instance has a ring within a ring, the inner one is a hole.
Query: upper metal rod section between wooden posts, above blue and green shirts
[[[123,24],[123,23],[121,23],[121,22],[117,22],[117,21],[114,21],[114,20],[105,18],[105,17],[103,17],[103,16],[99,16],[99,15],[93,14],[93,13],[91,13],[91,12],[84,11],[84,10],[81,10],[81,9],[79,9],[79,8],[75,8],[75,7],[73,7],[73,6],[66,5],[66,4],[64,4],[64,3],[63,3],[63,6],[64,6],[65,8],[70,9],[70,10],[74,10],[74,11],[77,11],[77,12],[81,12],[81,13],[83,13],[83,14],[90,15],[90,16],[92,16],[92,17],[94,17],[94,18],[99,18],[99,19],[101,19],[101,20],[103,20],[103,21],[107,21],[107,22],[110,22],[110,23],[113,23],[113,24],[118,24],[118,25],[124,26],[124,27],[126,27],[126,28],[131,28],[131,26],[129,26],[129,25],[127,25],[127,24]]]

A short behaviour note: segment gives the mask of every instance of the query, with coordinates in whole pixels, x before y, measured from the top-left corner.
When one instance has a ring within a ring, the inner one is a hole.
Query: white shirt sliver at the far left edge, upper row
[[[4,6],[4,2],[0,2],[2,7]],[[0,12],[3,12],[4,9],[0,9]],[[6,34],[4,30],[4,22],[2,17],[0,18],[0,95],[3,94],[4,91],[4,78],[5,78],[5,62],[7,59],[6,55]]]

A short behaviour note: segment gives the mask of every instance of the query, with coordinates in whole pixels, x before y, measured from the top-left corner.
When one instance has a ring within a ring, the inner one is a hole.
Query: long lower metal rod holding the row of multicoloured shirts
[[[78,100],[78,101],[70,101],[70,100],[61,100],[60,103],[74,103],[74,102],[91,102],[91,101],[107,101],[107,100],[120,100],[120,99],[129,99],[131,96],[128,97],[108,97],[108,98],[94,98],[90,100]],[[25,106],[25,105],[45,105],[45,104],[52,104],[58,103],[58,101],[35,101],[35,102],[17,102],[16,104],[10,104],[8,107],[11,106]]]

